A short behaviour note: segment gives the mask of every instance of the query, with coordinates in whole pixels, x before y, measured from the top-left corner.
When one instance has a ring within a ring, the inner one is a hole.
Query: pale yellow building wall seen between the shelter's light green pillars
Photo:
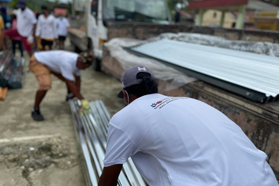
[[[216,17],[214,17],[216,13]],[[218,10],[207,10],[203,14],[203,24],[202,26],[219,25],[221,20],[222,12]],[[223,28],[232,28],[232,24],[236,22],[234,16],[226,12]]]

